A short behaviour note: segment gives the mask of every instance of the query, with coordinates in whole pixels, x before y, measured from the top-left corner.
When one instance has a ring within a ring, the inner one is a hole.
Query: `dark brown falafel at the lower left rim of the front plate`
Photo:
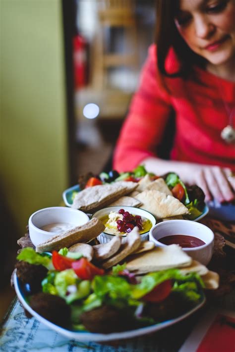
[[[39,292],[30,298],[29,304],[33,310],[52,323],[62,327],[69,326],[71,308],[61,297]]]

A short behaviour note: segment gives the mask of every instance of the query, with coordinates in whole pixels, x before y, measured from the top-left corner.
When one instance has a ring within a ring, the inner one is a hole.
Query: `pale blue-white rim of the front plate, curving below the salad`
[[[76,341],[111,341],[111,340],[122,340],[122,339],[129,339],[129,338],[134,338],[138,337],[141,335],[153,333],[155,331],[164,329],[170,325],[176,324],[177,322],[185,319],[192,313],[194,313],[196,310],[198,310],[204,303],[205,303],[205,298],[203,298],[202,302],[200,302],[197,306],[195,306],[193,309],[189,310],[187,313],[180,315],[179,317],[171,320],[164,321],[162,323],[158,323],[155,325],[147,326],[144,328],[140,329],[135,329],[135,330],[129,330],[129,331],[124,331],[120,333],[111,333],[111,334],[98,334],[98,333],[90,333],[90,332],[80,332],[80,331],[74,331],[74,330],[68,330],[61,328],[60,326],[51,323],[47,319],[43,318],[41,315],[36,313],[30,306],[29,304],[25,301],[24,294],[21,290],[19,280],[16,276],[16,273],[14,273],[14,287],[15,287],[15,292],[18,296],[19,301],[22,303],[25,309],[28,310],[30,314],[32,314],[37,320],[39,320],[41,323],[45,324],[48,326],[50,329],[55,330],[59,334],[66,336],[69,339],[74,339]]]

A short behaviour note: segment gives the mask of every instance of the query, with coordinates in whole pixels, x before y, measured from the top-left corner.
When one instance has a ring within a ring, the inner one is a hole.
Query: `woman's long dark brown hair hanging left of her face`
[[[205,59],[195,54],[178,33],[175,17],[179,9],[179,0],[157,0],[156,32],[157,61],[159,72],[167,77],[187,78],[193,74],[193,66],[204,66]],[[176,73],[168,73],[165,63],[169,50],[173,48],[180,62]]]

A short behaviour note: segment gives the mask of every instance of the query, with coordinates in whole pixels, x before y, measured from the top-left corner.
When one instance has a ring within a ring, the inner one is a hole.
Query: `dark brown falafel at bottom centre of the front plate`
[[[88,331],[103,334],[131,330],[136,324],[131,314],[109,305],[82,313],[81,322]]]

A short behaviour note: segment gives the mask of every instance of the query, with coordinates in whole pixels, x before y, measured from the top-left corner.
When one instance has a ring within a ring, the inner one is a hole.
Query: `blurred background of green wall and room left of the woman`
[[[0,0],[0,317],[29,216],[112,168],[154,25],[154,0]]]

